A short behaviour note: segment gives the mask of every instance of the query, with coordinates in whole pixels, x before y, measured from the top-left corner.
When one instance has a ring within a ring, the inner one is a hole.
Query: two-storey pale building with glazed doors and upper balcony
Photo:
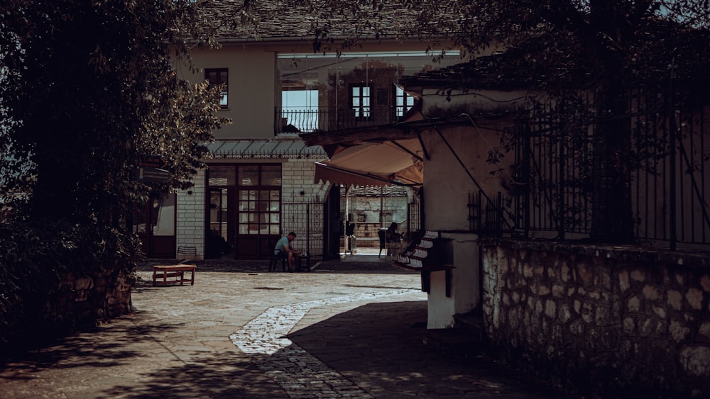
[[[317,173],[316,162],[327,159],[329,148],[308,147],[297,133],[397,123],[415,105],[395,85],[397,79],[459,62],[457,53],[435,63],[427,43],[402,38],[402,26],[415,13],[398,9],[383,11],[388,16],[383,28],[391,34],[361,38],[339,54],[314,52],[315,33],[305,10],[278,9],[278,2],[270,1],[260,5],[258,38],[249,27],[223,29],[222,47],[195,49],[195,68],[178,67],[191,82],[222,85],[220,116],[232,123],[214,132],[212,157],[204,160],[208,167],[191,189],[155,200],[136,215],[148,257],[268,259],[275,241],[290,231],[297,234],[295,247],[316,258],[334,257],[339,229],[332,218],[346,217],[340,183],[398,180],[416,186],[388,171]],[[214,21],[224,17],[213,16]],[[343,18],[337,12],[332,17]],[[346,21],[337,26],[342,32],[333,34],[340,38],[354,28]]]

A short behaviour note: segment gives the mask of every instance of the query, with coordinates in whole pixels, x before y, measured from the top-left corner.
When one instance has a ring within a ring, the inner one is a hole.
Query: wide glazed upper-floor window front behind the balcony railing
[[[441,62],[433,55],[426,51],[279,53],[281,96],[274,130],[305,133],[396,123],[416,100],[393,82],[464,61],[457,51],[447,52]]]

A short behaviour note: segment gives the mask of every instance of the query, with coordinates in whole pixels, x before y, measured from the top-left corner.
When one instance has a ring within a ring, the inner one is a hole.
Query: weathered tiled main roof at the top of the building
[[[442,0],[440,10],[451,9]],[[210,1],[202,6],[202,21],[209,23],[217,40],[273,40],[289,38],[315,38],[317,28],[326,28],[329,37],[352,36],[360,37],[378,35],[383,37],[398,37],[420,34],[425,30],[435,30],[444,26],[442,21],[455,23],[457,16],[447,11],[436,11],[435,16],[427,18],[426,26],[417,25],[417,18],[422,9],[414,6],[403,8],[393,1],[383,1],[382,9],[360,9],[356,13],[351,9],[354,1],[342,1],[347,7],[337,8],[337,2],[314,2],[320,8],[311,10],[306,4],[295,4],[296,1],[261,0],[250,1],[253,15],[258,23],[251,23],[241,18],[240,7],[244,0]],[[305,2],[304,2],[305,3]],[[432,11],[427,9],[426,11]],[[364,17],[363,17],[364,16]],[[363,22],[367,20],[368,22]]]

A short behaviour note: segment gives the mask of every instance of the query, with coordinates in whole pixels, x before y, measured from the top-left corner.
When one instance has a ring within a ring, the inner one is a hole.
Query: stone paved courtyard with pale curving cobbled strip
[[[356,257],[354,257],[356,258]],[[0,369],[0,398],[550,398],[483,358],[422,344],[418,274],[374,258],[268,273],[202,262],[195,286],[152,286],[136,312]]]

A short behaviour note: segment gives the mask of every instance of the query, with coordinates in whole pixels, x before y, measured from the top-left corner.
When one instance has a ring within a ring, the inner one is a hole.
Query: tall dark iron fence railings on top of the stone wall
[[[543,104],[513,135],[516,189],[469,194],[472,231],[558,239],[591,233],[594,125]],[[544,108],[547,107],[547,108]],[[710,107],[674,108],[660,96],[628,101],[635,239],[710,247]],[[589,108],[593,108],[591,100]]]

